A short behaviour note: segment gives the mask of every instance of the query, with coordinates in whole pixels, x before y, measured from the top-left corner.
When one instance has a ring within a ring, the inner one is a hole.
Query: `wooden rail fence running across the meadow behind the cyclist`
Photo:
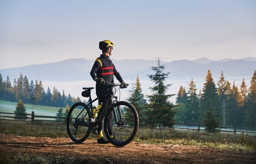
[[[8,121],[23,121],[23,122],[40,122],[40,123],[64,123],[66,120],[66,117],[56,117],[56,116],[36,116],[34,111],[32,111],[31,114],[14,114],[14,113],[5,113],[0,112],[0,114],[9,114],[9,115],[16,115],[16,116],[0,116],[0,120],[8,120]],[[17,117],[20,116],[20,117]],[[22,117],[23,116],[23,117]],[[26,117],[24,117],[26,116]],[[2,118],[9,118],[9,119],[2,119]],[[47,120],[41,120],[41,119],[35,119],[35,118],[47,118]],[[55,119],[55,120],[49,120],[49,118]],[[20,120],[19,120],[20,119]],[[58,120],[56,120],[58,119]],[[205,127],[198,125],[190,125],[190,124],[175,124],[173,126],[174,129],[187,129],[187,130],[197,130],[197,131],[205,131]],[[219,131],[225,131],[225,132],[242,132],[245,131],[247,133],[256,133],[255,129],[241,129],[236,128],[236,125],[234,127],[218,127]]]

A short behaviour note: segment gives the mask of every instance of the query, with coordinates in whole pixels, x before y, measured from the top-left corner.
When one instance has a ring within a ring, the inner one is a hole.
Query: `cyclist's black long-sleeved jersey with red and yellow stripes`
[[[115,75],[115,77],[120,83],[124,82],[119,72],[117,72],[115,65],[112,63],[108,56],[103,54],[101,54],[101,56],[95,60],[90,74],[93,80],[95,80],[95,78],[102,78],[105,81],[114,83]],[[96,84],[97,95],[101,94],[106,89],[106,85]]]

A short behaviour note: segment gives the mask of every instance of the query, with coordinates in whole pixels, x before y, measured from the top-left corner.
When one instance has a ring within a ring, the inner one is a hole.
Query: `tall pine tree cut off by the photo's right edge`
[[[251,86],[245,102],[245,122],[244,127],[256,128],[256,70],[250,81]]]

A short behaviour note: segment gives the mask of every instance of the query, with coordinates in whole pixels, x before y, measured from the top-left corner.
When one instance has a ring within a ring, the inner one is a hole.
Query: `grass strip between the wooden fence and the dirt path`
[[[68,137],[65,124],[0,121],[0,133],[50,138]],[[89,138],[96,140],[97,136],[91,134]],[[147,144],[183,144],[225,150],[256,151],[256,135],[246,132],[207,133],[193,130],[139,128],[133,141]]]

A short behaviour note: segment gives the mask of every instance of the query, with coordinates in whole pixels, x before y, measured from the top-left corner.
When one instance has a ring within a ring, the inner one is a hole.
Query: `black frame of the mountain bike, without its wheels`
[[[103,95],[105,95],[105,94],[107,94],[107,96],[106,96],[106,99],[104,100],[104,102],[103,102],[103,104],[102,104],[102,106],[101,106],[101,109],[104,109],[104,108],[106,107],[106,104],[107,104],[107,102],[109,101],[109,98],[111,98],[112,106],[110,107],[109,110],[113,110],[115,122],[117,123],[117,122],[118,122],[118,121],[117,121],[117,113],[116,113],[115,108],[114,108],[114,106],[113,106],[114,103],[113,103],[113,99],[112,99],[112,96],[113,96],[112,87],[109,87],[108,90],[106,90],[105,92],[103,92],[103,94],[101,94],[100,96],[98,96],[98,97],[95,98],[94,100],[92,100],[91,93],[90,93],[90,96],[89,96],[89,102],[90,102],[90,103],[88,103],[88,104],[85,106],[85,108],[88,107],[88,106],[90,106],[90,110],[91,110],[91,112],[92,112],[92,103],[94,103],[95,101],[97,101],[101,96],[103,96]],[[78,114],[78,116],[76,117],[76,119],[79,118],[79,116],[80,116],[81,113],[85,110],[85,108],[83,108],[83,110]],[[118,112],[119,112],[119,116],[120,116],[120,119],[121,119],[121,118],[122,118],[122,115],[121,115],[121,111],[120,111],[119,108],[118,108]],[[103,114],[103,110],[100,110],[100,111],[99,111],[99,114],[98,114],[98,116],[97,116],[97,118],[96,118],[96,122],[94,123],[95,128],[96,128],[96,126],[98,125],[99,120],[100,120],[102,114]],[[86,115],[87,115],[87,113],[85,114],[85,116],[86,116]],[[84,116],[84,117],[85,117],[85,116]],[[75,122],[76,122],[76,119],[75,119]],[[90,120],[90,121],[91,121],[91,120]],[[84,126],[86,126],[86,127],[89,127],[89,123],[83,123],[83,122],[79,122],[79,121],[78,121],[78,122],[76,122],[76,124],[84,125]]]

